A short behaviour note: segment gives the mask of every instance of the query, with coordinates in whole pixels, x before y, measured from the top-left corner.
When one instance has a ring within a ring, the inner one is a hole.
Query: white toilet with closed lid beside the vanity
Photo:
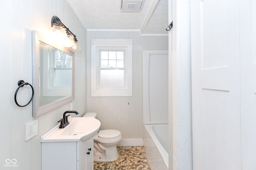
[[[96,118],[97,113],[89,112],[83,117]],[[116,145],[122,139],[122,134],[118,130],[107,129],[100,130],[94,136],[94,161],[111,162],[117,160],[119,155]]]

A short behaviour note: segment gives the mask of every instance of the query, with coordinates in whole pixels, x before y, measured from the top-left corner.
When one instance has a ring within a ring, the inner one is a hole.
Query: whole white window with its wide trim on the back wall
[[[132,40],[92,39],[91,96],[132,96]]]

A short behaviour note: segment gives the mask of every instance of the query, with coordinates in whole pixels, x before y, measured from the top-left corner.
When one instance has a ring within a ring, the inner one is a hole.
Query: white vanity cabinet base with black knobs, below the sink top
[[[42,170],[93,169],[93,138],[85,142],[42,143]]]

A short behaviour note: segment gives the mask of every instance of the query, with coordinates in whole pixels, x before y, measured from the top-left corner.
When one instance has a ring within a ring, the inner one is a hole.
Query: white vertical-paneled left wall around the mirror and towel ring
[[[14,93],[18,80],[32,83],[32,30],[44,35],[51,27],[52,16],[58,16],[76,33],[82,50],[75,57],[75,100],[74,109],[86,111],[86,29],[82,26],[66,0],[8,0],[1,2],[0,21],[0,169],[40,170],[40,137],[57,124],[70,104],[61,106],[39,117],[32,117],[32,104],[18,107]],[[24,86],[17,100],[26,104],[31,89]],[[79,116],[79,115],[78,115]],[[82,114],[80,114],[82,116]],[[38,119],[38,135],[25,141],[25,123]],[[16,159],[16,167],[4,167],[6,159]]]

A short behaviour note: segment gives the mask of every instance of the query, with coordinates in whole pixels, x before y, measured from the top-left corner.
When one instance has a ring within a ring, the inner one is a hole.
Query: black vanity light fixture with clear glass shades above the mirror
[[[50,33],[55,41],[58,40],[72,51],[80,51],[81,48],[76,39],[76,35],[74,35],[74,33],[60,21],[60,18],[53,16],[51,25]]]

